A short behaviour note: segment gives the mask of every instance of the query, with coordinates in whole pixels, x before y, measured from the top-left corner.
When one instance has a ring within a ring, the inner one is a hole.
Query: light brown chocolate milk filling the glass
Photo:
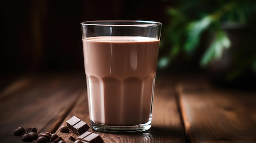
[[[99,124],[147,123],[157,68],[159,40],[101,36],[83,40],[90,119]]]

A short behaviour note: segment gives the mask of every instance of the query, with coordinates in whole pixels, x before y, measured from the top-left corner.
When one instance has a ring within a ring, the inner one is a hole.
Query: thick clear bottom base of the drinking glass
[[[143,132],[151,127],[151,120],[147,123],[131,126],[112,126],[90,122],[92,130],[98,132],[109,132],[109,133],[132,133],[132,132]]]

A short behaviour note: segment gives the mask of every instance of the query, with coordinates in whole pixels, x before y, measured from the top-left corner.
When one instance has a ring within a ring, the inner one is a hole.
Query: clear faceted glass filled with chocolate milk
[[[133,20],[81,23],[93,130],[141,132],[151,127],[161,27]]]

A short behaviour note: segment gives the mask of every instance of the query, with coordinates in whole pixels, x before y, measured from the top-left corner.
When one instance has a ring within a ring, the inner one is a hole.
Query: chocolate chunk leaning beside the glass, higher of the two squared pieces
[[[67,122],[67,127],[74,133],[77,133],[79,135],[83,134],[84,132],[88,131],[90,127],[80,120],[79,118],[73,116]]]

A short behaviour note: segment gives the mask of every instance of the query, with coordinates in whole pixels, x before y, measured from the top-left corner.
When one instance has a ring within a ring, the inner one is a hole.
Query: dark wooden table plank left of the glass
[[[19,126],[55,132],[85,89],[84,79],[73,74],[28,75],[7,86],[0,94],[0,142],[22,142],[13,136]]]

